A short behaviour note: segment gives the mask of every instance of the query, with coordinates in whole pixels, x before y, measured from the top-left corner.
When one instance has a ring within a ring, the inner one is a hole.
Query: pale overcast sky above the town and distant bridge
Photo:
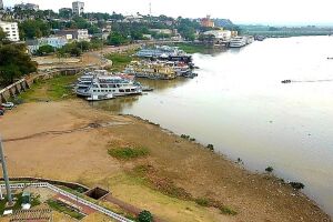
[[[13,6],[21,0],[3,0]],[[38,3],[41,9],[71,7],[72,0],[24,0]],[[171,17],[231,19],[235,23],[263,24],[333,24],[333,0],[84,0],[85,11],[149,13]]]

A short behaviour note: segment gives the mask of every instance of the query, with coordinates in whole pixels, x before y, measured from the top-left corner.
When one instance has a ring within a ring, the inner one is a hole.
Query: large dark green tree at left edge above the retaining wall
[[[0,80],[8,84],[37,71],[37,63],[26,53],[24,44],[0,46]]]

